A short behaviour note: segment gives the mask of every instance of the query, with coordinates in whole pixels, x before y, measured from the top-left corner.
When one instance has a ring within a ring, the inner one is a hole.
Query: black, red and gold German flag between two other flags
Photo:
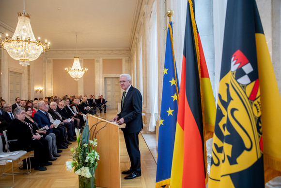
[[[193,5],[194,1],[188,0],[171,188],[205,188],[205,140],[212,137],[216,117]]]

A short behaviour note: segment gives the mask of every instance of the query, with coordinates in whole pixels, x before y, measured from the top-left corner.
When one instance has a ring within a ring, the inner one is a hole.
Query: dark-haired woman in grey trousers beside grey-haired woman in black
[[[60,154],[57,154],[57,145],[56,145],[56,135],[54,133],[46,134],[47,131],[39,131],[39,125],[38,123],[31,117],[32,114],[32,108],[31,106],[25,107],[25,121],[30,123],[33,126],[34,132],[36,131],[40,135],[42,135],[45,139],[48,141],[48,149],[49,149],[49,160],[54,161],[56,160],[58,156],[61,156]]]

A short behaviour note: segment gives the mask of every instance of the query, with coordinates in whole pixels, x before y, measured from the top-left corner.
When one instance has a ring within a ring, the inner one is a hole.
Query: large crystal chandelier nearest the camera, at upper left
[[[0,47],[4,48],[13,59],[19,60],[20,65],[28,66],[30,61],[34,61],[42,52],[49,50],[50,43],[46,40],[42,44],[40,37],[36,41],[30,24],[30,15],[26,14],[25,10],[17,14],[18,22],[13,37],[9,39],[6,34],[5,40],[0,38]]]

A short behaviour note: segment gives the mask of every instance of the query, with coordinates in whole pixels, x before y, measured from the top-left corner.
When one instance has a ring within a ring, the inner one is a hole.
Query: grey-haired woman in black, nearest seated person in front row
[[[34,133],[33,126],[25,121],[25,109],[17,107],[14,110],[15,119],[11,121],[7,130],[8,139],[17,139],[10,143],[10,150],[34,151],[34,170],[46,171],[44,166],[52,165],[48,162],[48,141],[38,133]]]

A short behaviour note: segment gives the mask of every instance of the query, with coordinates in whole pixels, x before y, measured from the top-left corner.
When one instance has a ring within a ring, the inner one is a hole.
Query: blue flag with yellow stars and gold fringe
[[[179,84],[173,51],[172,22],[168,24],[158,136],[156,188],[170,185],[178,112]]]

